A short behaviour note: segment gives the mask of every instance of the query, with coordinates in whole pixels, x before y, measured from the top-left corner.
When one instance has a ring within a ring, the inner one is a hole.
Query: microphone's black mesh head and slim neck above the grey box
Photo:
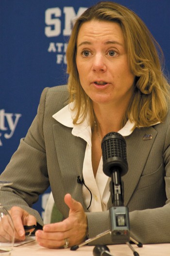
[[[103,172],[111,177],[110,192],[112,203],[123,205],[123,184],[121,175],[128,171],[126,141],[116,132],[106,134],[102,139]]]

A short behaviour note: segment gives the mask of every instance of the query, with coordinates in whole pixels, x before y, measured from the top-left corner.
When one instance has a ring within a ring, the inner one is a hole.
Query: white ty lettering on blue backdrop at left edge
[[[12,138],[21,116],[21,114],[5,113],[4,109],[0,109],[0,146],[3,145],[2,136],[6,139]]]

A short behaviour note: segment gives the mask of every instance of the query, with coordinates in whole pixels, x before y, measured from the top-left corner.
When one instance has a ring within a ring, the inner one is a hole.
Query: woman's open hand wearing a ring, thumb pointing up
[[[35,232],[39,245],[47,248],[61,248],[68,240],[68,246],[73,246],[85,240],[87,234],[87,218],[81,203],[69,194],[65,196],[65,203],[69,207],[69,216],[65,220],[44,225],[43,230]]]

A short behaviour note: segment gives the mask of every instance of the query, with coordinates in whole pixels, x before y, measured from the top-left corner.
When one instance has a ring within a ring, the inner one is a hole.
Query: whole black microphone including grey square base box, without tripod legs
[[[103,172],[111,177],[110,193],[113,206],[109,209],[110,231],[116,243],[130,240],[129,211],[124,206],[121,175],[128,171],[126,141],[116,132],[106,134],[102,139]]]

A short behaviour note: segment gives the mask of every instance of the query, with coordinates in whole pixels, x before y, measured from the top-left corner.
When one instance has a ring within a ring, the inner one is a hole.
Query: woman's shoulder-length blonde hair
[[[75,101],[74,110],[78,118],[85,119],[90,112],[90,124],[94,124],[91,99],[83,90],[76,66],[77,36],[83,23],[90,20],[118,22],[123,31],[129,67],[136,76],[134,96],[125,113],[137,127],[162,122],[167,115],[168,80],[165,78],[160,59],[161,47],[153,38],[144,22],[130,9],[111,1],[99,2],[88,8],[76,21],[68,42],[68,91],[69,101]],[[160,59],[159,59],[160,58]]]

